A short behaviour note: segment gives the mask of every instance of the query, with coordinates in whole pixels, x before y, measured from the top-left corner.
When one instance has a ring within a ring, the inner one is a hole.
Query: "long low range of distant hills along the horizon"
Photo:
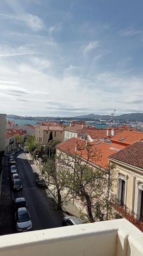
[[[24,117],[24,116],[17,116],[17,115],[7,115],[7,118],[15,118],[15,119],[28,119],[28,120],[47,120],[47,119],[87,119],[87,120],[95,120],[95,119],[106,119],[110,120],[112,117],[110,115],[95,115],[95,114],[88,114],[88,115],[82,115],[82,116],[73,116],[73,117]],[[119,116],[115,116],[114,119],[118,120],[129,120],[129,121],[143,121],[143,113],[131,113],[131,114],[122,114]]]

